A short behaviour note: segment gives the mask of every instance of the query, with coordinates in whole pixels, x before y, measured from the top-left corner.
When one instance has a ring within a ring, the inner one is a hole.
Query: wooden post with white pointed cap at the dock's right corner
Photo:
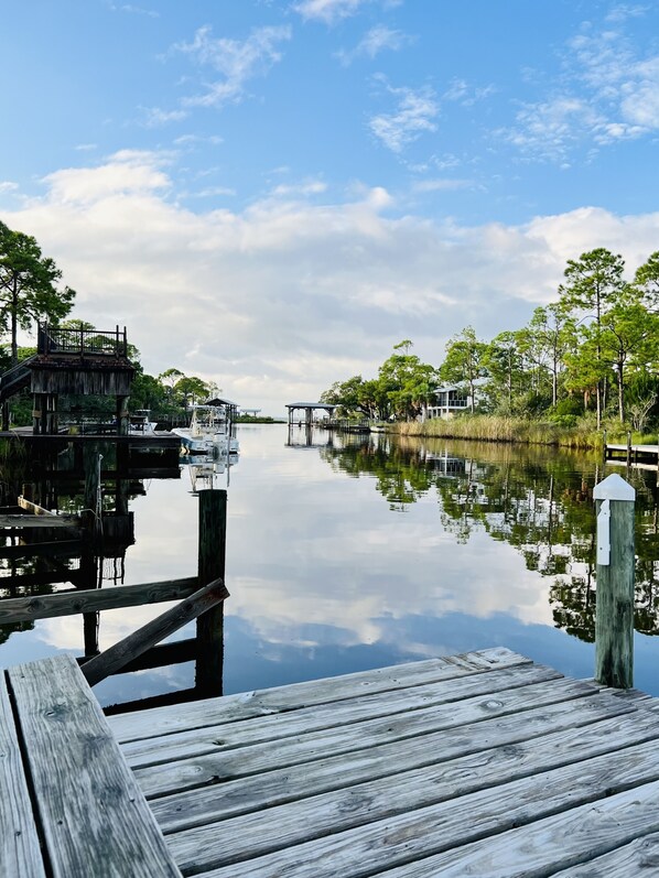
[[[595,680],[634,685],[634,500],[636,491],[615,473],[593,491],[597,512]]]

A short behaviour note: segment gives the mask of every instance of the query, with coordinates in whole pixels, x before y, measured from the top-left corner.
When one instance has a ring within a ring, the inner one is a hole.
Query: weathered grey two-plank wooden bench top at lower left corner
[[[0,672],[0,875],[181,876],[75,659]]]

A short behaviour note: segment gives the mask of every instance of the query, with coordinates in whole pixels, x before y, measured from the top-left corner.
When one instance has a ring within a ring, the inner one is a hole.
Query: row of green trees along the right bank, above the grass
[[[417,420],[433,391],[452,384],[468,393],[471,412],[581,418],[597,427],[615,416],[642,431],[659,398],[659,251],[625,279],[622,256],[596,248],[568,260],[558,297],[533,311],[526,326],[486,340],[472,326],[446,344],[435,367],[410,353],[406,339],[375,379],[337,381],[321,400],[339,414]]]

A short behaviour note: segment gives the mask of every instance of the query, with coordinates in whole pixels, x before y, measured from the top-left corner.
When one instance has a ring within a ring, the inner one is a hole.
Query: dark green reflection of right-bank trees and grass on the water
[[[595,638],[593,487],[608,475],[598,462],[547,448],[401,438],[327,448],[323,457],[352,476],[375,477],[390,508],[402,509],[434,487],[442,527],[457,542],[482,529],[515,546],[528,570],[550,576],[554,624]],[[659,488],[656,474],[624,474],[636,489],[638,631],[659,635]]]

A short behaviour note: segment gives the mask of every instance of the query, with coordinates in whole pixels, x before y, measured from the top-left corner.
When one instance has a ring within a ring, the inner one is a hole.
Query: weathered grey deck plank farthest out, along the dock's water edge
[[[250,717],[268,716],[311,707],[316,704],[353,698],[366,693],[392,692],[410,686],[485,673],[515,665],[530,665],[529,659],[505,648],[486,649],[441,659],[358,671],[342,676],[311,680],[287,686],[242,692],[222,698],[208,698],[195,705],[174,705],[150,711],[148,714],[126,714],[108,718],[120,742],[150,738],[154,725],[162,735],[187,731],[219,723],[234,723]]]

